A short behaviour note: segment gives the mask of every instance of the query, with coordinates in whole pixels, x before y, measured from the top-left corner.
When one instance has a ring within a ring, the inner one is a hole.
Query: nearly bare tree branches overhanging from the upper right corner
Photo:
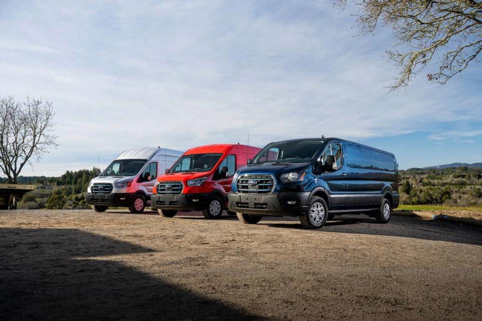
[[[350,0],[337,0],[342,7]],[[392,89],[406,86],[435,58],[438,68],[427,79],[445,84],[469,64],[480,63],[482,1],[480,0],[352,0],[358,23],[372,33],[381,22],[391,26],[397,43],[388,51],[399,69]]]

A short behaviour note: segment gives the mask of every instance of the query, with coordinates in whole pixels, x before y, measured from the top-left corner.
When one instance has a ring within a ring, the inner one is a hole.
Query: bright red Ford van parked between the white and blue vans
[[[178,211],[202,211],[206,218],[219,218],[227,208],[234,172],[246,166],[260,150],[240,144],[189,149],[166,174],[158,177],[151,207],[164,217],[173,217]]]

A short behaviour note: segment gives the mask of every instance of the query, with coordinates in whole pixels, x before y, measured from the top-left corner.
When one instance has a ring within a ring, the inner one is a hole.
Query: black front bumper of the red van
[[[208,204],[209,193],[151,196],[151,207],[161,210],[202,211]]]

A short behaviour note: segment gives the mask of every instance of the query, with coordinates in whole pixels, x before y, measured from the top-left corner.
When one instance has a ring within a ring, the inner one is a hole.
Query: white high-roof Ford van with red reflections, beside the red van
[[[123,151],[107,169],[89,183],[85,200],[95,212],[109,206],[129,207],[141,213],[151,203],[156,178],[170,169],[183,151],[166,148],[135,148]]]

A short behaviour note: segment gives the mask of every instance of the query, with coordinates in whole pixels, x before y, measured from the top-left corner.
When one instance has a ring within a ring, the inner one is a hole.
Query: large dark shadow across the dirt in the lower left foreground
[[[254,320],[263,317],[93,256],[151,249],[73,229],[0,229],[0,319]]]

